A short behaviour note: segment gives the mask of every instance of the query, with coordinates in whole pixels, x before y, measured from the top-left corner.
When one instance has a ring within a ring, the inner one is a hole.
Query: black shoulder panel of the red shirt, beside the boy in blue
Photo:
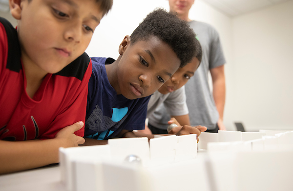
[[[91,67],[91,59],[84,53],[55,75],[76,77],[82,81],[89,66]]]

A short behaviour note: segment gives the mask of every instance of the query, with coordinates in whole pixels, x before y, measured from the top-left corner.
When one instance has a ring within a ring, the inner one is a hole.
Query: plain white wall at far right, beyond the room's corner
[[[233,19],[234,120],[293,130],[293,0]]]

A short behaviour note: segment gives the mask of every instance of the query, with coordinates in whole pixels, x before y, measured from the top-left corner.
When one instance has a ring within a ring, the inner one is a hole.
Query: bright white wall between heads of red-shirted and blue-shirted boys
[[[119,44],[131,35],[146,15],[156,7],[168,8],[167,0],[113,0],[111,11],[102,19],[86,49],[90,57],[116,59]]]

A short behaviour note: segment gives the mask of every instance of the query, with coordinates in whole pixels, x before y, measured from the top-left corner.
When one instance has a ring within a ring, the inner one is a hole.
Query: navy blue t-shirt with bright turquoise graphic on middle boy
[[[150,96],[127,99],[111,86],[105,64],[115,60],[92,57],[93,71],[88,83],[84,137],[104,140],[115,137],[123,129],[145,129],[147,103]]]

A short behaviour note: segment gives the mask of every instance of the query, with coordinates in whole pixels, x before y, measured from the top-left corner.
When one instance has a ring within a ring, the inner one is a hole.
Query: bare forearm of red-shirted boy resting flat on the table
[[[0,173],[16,172],[59,162],[59,147],[54,139],[29,141],[0,140]]]

